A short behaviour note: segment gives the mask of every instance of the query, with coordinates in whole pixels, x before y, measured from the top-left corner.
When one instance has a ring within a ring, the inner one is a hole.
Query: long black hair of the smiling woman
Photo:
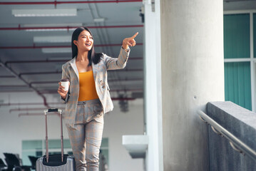
[[[91,36],[93,36],[92,33],[91,33],[91,31],[90,31],[88,28],[83,27],[83,26],[82,26],[82,27],[78,27],[78,28],[76,28],[75,31],[73,31],[73,34],[72,34],[72,41],[71,41],[72,58],[75,58],[75,57],[77,56],[77,53],[78,53],[78,48],[77,48],[77,46],[73,43],[73,41],[74,41],[74,40],[77,41],[77,40],[78,40],[78,36],[80,35],[80,33],[81,33],[82,31],[85,31],[85,30],[88,31],[88,32],[91,34]],[[99,63],[99,62],[101,61],[101,56],[103,56],[102,53],[96,53],[96,52],[94,51],[94,43],[93,43],[93,47],[91,48],[90,51],[88,51],[88,60],[89,60],[88,66],[91,66],[92,61],[93,61],[94,64]]]

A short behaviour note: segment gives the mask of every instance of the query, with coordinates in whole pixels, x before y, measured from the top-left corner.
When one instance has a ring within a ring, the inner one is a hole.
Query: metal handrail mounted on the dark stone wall
[[[203,120],[204,123],[208,123],[212,126],[212,129],[215,133],[221,135],[222,137],[224,136],[225,138],[227,138],[227,140],[230,141],[230,145],[234,150],[240,152],[242,155],[248,155],[253,160],[256,160],[255,150],[252,150],[252,148],[250,148],[244,142],[236,138],[234,135],[232,135],[232,133],[227,131],[220,124],[216,123],[215,120],[206,115],[202,110],[198,110],[198,114],[200,119]]]

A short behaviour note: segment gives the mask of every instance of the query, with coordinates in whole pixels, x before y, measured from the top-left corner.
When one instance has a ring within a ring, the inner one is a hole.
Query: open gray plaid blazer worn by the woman
[[[113,110],[113,103],[108,87],[108,74],[107,70],[115,70],[126,67],[130,50],[125,51],[121,48],[118,58],[111,58],[103,53],[101,61],[97,64],[92,63],[93,77],[96,86],[96,92],[98,98],[101,100],[103,107],[103,113],[108,113]],[[76,108],[79,95],[79,75],[76,68],[76,57],[71,61],[66,62],[62,66],[62,79],[68,78],[70,81],[70,87],[66,99],[62,99],[63,103],[66,103],[66,112],[63,113],[63,118],[66,120],[66,124],[73,127],[76,118]]]

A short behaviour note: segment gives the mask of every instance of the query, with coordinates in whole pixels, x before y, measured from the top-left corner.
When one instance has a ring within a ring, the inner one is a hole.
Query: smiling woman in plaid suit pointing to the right
[[[126,66],[129,46],[135,46],[135,33],[123,39],[118,58],[95,53],[93,36],[86,27],[79,27],[72,34],[72,57],[62,66],[62,79],[70,81],[69,90],[59,83],[58,93],[66,103],[68,136],[71,141],[76,170],[98,170],[99,151],[103,133],[103,115],[113,110],[109,93],[107,70]]]

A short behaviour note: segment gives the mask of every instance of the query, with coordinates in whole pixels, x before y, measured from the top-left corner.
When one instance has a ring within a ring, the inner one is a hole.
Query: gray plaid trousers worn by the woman
[[[103,125],[99,99],[78,102],[75,125],[67,126],[76,171],[98,171]]]

